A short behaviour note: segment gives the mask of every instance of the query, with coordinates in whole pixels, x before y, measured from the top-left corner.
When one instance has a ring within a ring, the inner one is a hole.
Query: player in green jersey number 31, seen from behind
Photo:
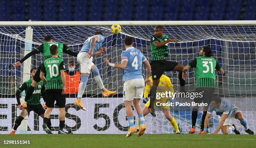
[[[199,134],[202,133],[204,129],[205,116],[207,113],[208,106],[211,103],[211,99],[213,97],[214,88],[215,88],[215,69],[220,72],[220,74],[224,74],[224,70],[219,66],[217,60],[212,57],[212,49],[209,46],[203,46],[199,52],[200,57],[196,57],[192,62],[187,64],[183,68],[183,79],[185,80],[187,77],[187,69],[195,68],[195,77],[196,77],[196,89],[197,93],[202,93],[202,97],[197,97],[193,101],[197,104],[207,103],[207,106],[203,106],[202,113],[202,122],[201,129]],[[197,122],[197,113],[199,106],[194,106],[191,113],[192,127],[189,133],[195,133],[195,124]]]

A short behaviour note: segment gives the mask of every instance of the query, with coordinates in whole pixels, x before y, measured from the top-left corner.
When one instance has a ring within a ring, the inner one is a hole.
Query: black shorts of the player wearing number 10
[[[47,89],[46,90],[46,106],[49,108],[54,108],[54,102],[59,106],[59,108],[64,108],[66,106],[65,94],[61,94],[62,89]]]

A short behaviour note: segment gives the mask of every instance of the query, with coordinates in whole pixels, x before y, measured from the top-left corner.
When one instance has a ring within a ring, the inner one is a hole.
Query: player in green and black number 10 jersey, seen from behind
[[[54,108],[54,102],[59,106],[59,134],[65,133],[63,131],[65,124],[65,106],[66,106],[66,76],[63,59],[58,57],[58,47],[56,44],[50,47],[51,58],[44,61],[41,68],[40,78],[46,82],[46,106],[47,109],[44,113],[43,128],[46,133],[51,130],[46,126],[49,121],[51,111]],[[46,73],[46,78],[44,74]]]

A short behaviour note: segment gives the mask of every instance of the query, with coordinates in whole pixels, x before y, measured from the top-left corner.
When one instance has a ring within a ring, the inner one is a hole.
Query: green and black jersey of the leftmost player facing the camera
[[[16,95],[16,99],[18,104],[20,104],[20,93],[22,91],[25,90],[25,94],[27,94],[28,88],[31,86],[32,84],[32,79],[29,79],[28,81],[25,81],[20,88],[18,88],[18,95]],[[28,105],[37,105],[40,104],[40,99],[41,99],[41,92],[45,91],[45,87],[44,87],[44,83],[43,81],[39,81],[39,83],[37,84],[35,90],[33,91],[32,96],[28,99],[27,104]]]

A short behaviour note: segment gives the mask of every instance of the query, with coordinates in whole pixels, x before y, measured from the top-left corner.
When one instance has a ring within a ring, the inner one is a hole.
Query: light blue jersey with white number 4
[[[121,54],[121,59],[127,61],[127,66],[123,70],[123,81],[131,79],[143,78],[141,72],[142,62],[146,60],[146,57],[134,47],[129,47]]]

